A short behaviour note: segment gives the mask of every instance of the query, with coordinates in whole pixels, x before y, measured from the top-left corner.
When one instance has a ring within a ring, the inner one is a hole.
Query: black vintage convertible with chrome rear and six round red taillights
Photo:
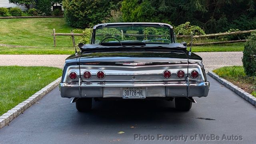
[[[206,97],[210,83],[202,58],[176,43],[163,23],[109,23],[94,26],[90,44],[65,61],[60,93],[86,112],[92,98],[175,100],[190,110],[193,97]]]

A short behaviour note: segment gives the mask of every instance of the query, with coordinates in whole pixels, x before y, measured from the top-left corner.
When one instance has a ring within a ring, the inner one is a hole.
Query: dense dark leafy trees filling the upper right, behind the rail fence
[[[255,0],[124,0],[124,21],[190,22],[206,33],[256,29]]]

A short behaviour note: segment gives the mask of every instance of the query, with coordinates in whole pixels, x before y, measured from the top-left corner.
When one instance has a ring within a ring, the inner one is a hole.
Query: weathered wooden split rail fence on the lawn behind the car
[[[206,38],[206,37],[215,37],[215,36],[227,36],[227,35],[234,35],[234,34],[248,34],[255,30],[244,30],[244,31],[238,31],[238,32],[223,32],[218,34],[204,34],[200,36],[193,36],[193,38]],[[127,35],[127,34],[126,34]],[[133,36],[136,34],[133,34]],[[143,35],[143,34],[140,34]],[[53,29],[53,41],[54,41],[54,47],[56,47],[56,36],[71,36],[73,46],[76,46],[75,38],[74,36],[82,36],[82,34],[74,34],[71,33],[56,33],[55,29]],[[162,35],[156,35],[158,37],[161,37]],[[177,35],[178,38],[190,38],[189,35]],[[193,44],[194,46],[200,46],[200,45],[206,45],[206,44],[228,44],[228,43],[236,43],[236,42],[246,42],[247,40],[231,40],[231,41],[223,41],[223,42],[207,42],[207,43],[200,43],[200,44]]]

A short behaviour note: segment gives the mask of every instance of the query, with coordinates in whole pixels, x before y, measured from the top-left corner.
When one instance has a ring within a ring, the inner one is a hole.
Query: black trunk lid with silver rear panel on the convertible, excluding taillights
[[[183,51],[111,51],[86,52],[80,56],[80,74],[83,82],[160,82],[184,81],[176,77],[178,70],[187,74],[188,58]],[[92,78],[83,78],[89,70]],[[102,70],[106,77],[96,78]],[[165,79],[164,70],[170,70],[172,77]]]

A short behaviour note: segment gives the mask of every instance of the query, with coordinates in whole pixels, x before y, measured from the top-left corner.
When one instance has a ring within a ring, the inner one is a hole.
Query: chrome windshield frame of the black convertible
[[[98,25],[94,26],[93,31],[92,31],[91,44],[95,44],[95,36],[96,36],[96,29],[97,28],[115,27],[115,26],[158,26],[158,27],[170,28],[170,40],[171,40],[170,43],[175,43],[174,34],[173,34],[173,27],[170,24],[152,23],[152,22],[125,22],[125,23],[98,24]]]

